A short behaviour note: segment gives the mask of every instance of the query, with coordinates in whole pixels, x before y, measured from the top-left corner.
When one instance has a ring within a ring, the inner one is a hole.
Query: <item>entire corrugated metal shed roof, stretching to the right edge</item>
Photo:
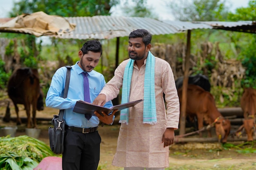
[[[223,29],[228,31],[240,31],[256,33],[255,21],[206,21],[185,22],[171,20],[155,20],[152,18],[124,17],[124,16],[102,16],[93,17],[68,17],[70,23],[76,24],[75,30],[57,38],[67,39],[110,39],[128,36],[136,29],[147,29],[153,35],[180,33],[193,29]],[[0,23],[4,20],[0,20]]]

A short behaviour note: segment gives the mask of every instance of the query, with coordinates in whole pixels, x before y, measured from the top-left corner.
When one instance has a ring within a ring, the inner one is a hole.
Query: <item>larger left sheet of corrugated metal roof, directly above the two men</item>
[[[175,26],[152,18],[123,16],[68,17],[76,24],[74,31],[58,36],[73,39],[110,39],[128,36],[136,29],[147,29],[153,35],[179,33]]]

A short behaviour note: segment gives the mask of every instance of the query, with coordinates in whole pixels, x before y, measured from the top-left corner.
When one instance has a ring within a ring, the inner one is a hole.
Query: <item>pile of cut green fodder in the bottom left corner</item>
[[[33,170],[49,156],[56,155],[43,141],[33,137],[0,137],[0,170]]]

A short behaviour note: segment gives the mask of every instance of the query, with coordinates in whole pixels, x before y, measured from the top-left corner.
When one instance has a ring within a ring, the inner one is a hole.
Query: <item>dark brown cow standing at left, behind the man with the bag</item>
[[[43,93],[40,89],[39,77],[37,69],[28,67],[19,68],[13,71],[9,78],[7,92],[13,101],[17,114],[17,124],[21,124],[18,115],[19,109],[17,104],[23,104],[27,113],[27,128],[36,127],[36,109],[43,110]],[[30,110],[32,105],[33,125],[30,118]]]

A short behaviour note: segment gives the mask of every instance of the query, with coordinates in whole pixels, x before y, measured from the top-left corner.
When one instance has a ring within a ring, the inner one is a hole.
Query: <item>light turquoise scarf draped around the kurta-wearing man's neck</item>
[[[133,64],[135,60],[129,60],[124,69],[124,79],[122,88],[121,104],[132,102],[130,98],[130,84],[132,80]],[[123,109],[120,112],[119,123],[128,124],[129,108]],[[146,60],[146,71],[144,77],[144,105],[143,105],[143,123],[156,124],[157,115],[155,107],[155,56],[148,51]]]

